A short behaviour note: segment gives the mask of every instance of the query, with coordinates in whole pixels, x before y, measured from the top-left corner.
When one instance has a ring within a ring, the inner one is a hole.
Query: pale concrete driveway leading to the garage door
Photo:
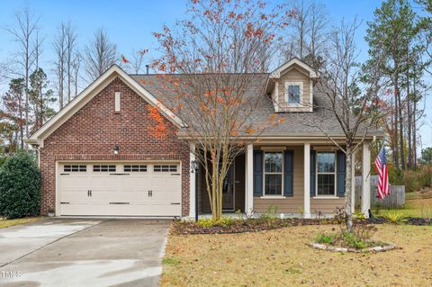
[[[0,229],[0,286],[157,286],[169,224],[52,219]]]

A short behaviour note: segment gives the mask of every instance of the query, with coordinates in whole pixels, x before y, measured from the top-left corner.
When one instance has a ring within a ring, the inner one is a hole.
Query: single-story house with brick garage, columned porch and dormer
[[[322,108],[328,101],[314,92],[317,77],[298,58],[270,74],[254,75],[248,93],[260,104],[252,120],[276,112],[285,121],[264,130],[236,157],[223,191],[224,211],[261,213],[277,206],[287,216],[308,218],[344,205],[345,175],[354,169],[347,171],[345,154],[302,122],[329,119]],[[173,95],[159,94],[155,86],[156,75],[128,75],[114,65],[27,139],[39,153],[42,214],[192,217],[210,212],[202,172],[199,178],[191,173],[193,142],[183,139],[184,122],[170,106]],[[282,92],[287,90],[290,96]],[[155,111],[162,115],[163,135],[155,134],[160,124],[151,116]],[[338,122],[327,121],[325,129],[343,144]],[[369,146],[376,136],[381,134],[365,138],[363,175],[369,174]],[[368,181],[364,176],[365,214]]]

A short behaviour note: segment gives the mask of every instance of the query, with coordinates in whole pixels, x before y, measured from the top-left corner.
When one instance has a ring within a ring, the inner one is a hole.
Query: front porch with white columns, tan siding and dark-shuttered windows
[[[370,143],[362,153],[363,186],[361,212],[370,209]],[[191,149],[193,150],[193,149]],[[191,162],[194,160],[191,152]],[[329,217],[345,204],[345,175],[352,173],[351,205],[355,207],[355,157],[353,168],[345,169],[345,154],[329,143],[249,144],[245,153],[236,157],[223,190],[223,211],[234,216],[241,211],[257,216],[271,211],[281,217]],[[211,213],[209,196],[200,166],[198,174],[190,174],[190,212]],[[195,180],[197,181],[196,184]],[[195,196],[198,187],[198,198]]]

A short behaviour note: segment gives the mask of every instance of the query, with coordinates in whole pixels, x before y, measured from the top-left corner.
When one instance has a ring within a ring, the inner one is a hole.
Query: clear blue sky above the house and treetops
[[[270,3],[277,1],[270,0]],[[362,21],[357,33],[357,44],[361,49],[360,60],[367,57],[365,44],[366,22],[374,18],[374,9],[381,4],[378,0],[322,0],[327,6],[334,23],[342,18],[352,21]],[[14,24],[14,12],[28,5],[36,15],[40,16],[40,35],[45,38],[43,61],[49,68],[49,58],[52,56],[52,35],[60,22],[72,23],[78,33],[78,42],[84,46],[94,31],[103,27],[118,46],[119,51],[128,55],[132,49],[154,47],[155,40],[151,32],[160,30],[166,24],[182,19],[185,2],[182,0],[0,0],[0,28]],[[15,43],[10,35],[0,29],[0,62],[13,55]],[[43,64],[42,64],[43,65]],[[430,78],[429,78],[430,82]],[[4,89],[0,85],[0,91]],[[427,99],[427,118],[420,130],[423,147],[432,147],[432,103]]]

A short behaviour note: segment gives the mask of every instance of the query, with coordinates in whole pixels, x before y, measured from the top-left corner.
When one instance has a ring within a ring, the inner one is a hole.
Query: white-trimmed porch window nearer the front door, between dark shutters
[[[266,151],[264,153],[264,195],[283,195],[284,153]]]

